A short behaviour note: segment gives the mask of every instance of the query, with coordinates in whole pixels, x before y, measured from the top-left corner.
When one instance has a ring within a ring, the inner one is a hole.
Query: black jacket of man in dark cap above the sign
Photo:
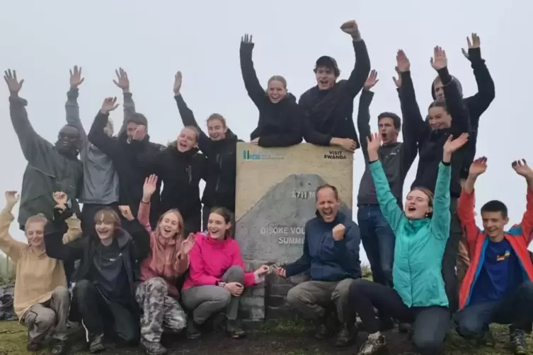
[[[314,86],[300,96],[304,114],[304,139],[319,146],[329,146],[333,137],[349,138],[360,146],[353,124],[353,100],[367,80],[370,58],[364,40],[353,41],[355,66],[348,80],[338,81],[329,90]]]

